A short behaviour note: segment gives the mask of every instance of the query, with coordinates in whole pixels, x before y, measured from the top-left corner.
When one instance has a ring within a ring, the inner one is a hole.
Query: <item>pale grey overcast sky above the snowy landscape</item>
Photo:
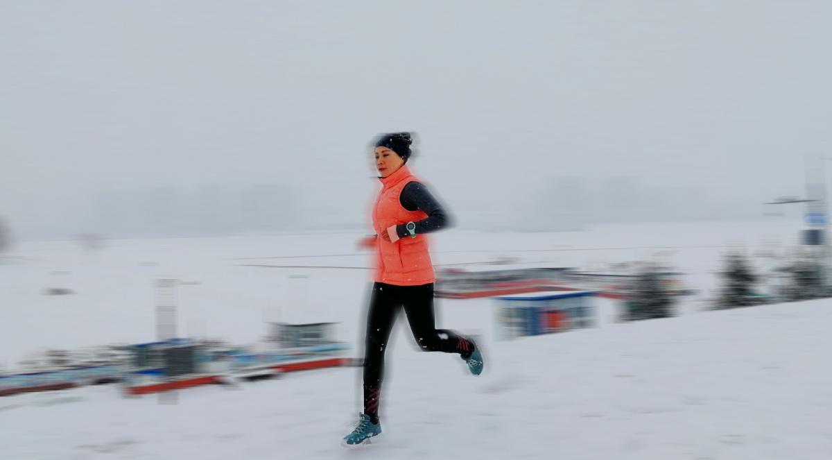
[[[828,1],[0,0],[0,216],[94,231],[111,191],[282,183],[342,218],[391,130],[462,217],[567,176],[800,196],[804,154],[832,157],[830,24]]]

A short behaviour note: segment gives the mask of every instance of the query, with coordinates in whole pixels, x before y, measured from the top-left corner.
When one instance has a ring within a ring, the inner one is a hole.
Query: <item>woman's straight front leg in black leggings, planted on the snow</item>
[[[384,379],[384,351],[390,330],[401,308],[397,299],[398,286],[374,283],[367,312],[367,333],[364,344],[364,413],[379,423],[379,396]]]

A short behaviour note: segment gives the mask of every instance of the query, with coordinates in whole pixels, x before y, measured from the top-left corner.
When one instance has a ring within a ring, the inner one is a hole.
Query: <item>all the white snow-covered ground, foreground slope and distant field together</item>
[[[0,398],[0,458],[832,458],[829,301],[702,312],[727,248],[794,244],[793,223],[619,225],[576,233],[437,235],[434,262],[501,256],[579,268],[658,258],[701,294],[681,316],[513,342],[493,301],[438,301],[439,326],[482,335],[486,372],[419,353],[400,318],[388,352],[384,439],[346,450],[359,369],[194,388],[175,405],[115,386]],[[268,320],[341,323],[359,353],[369,256],[358,234],[24,243],[0,263],[0,363],[37,348],[155,338],[152,283],[179,289],[181,335],[250,343]],[[275,267],[282,266],[282,267]],[[297,268],[297,267],[305,268]],[[315,268],[309,268],[314,266]],[[45,296],[45,288],[69,288]]]

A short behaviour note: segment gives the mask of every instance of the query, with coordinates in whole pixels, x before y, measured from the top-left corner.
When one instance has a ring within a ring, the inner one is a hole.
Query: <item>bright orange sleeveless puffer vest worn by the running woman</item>
[[[387,232],[391,225],[417,222],[428,217],[422,211],[408,211],[399,201],[404,186],[418,181],[406,166],[379,180],[382,188],[373,207],[373,228],[376,234]],[[397,286],[418,286],[435,280],[427,235],[399,238],[393,243],[384,241],[384,238],[376,238],[375,248],[374,281]]]

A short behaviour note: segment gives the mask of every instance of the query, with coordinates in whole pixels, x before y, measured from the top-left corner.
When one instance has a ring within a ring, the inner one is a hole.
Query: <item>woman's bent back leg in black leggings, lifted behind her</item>
[[[471,356],[474,344],[448,329],[437,329],[433,312],[433,283],[404,287],[404,313],[419,348],[426,352],[459,353]]]

